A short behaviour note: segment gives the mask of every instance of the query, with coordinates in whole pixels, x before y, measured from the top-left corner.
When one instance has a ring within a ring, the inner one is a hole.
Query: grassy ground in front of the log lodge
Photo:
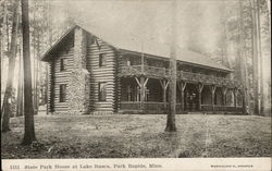
[[[271,157],[271,120],[254,115],[36,115],[37,143],[22,146],[24,119],[1,134],[1,158]]]

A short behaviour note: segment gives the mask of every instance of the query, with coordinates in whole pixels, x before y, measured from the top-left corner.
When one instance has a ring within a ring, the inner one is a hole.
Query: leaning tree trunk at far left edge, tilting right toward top
[[[12,114],[11,110],[11,100],[12,100],[12,89],[13,89],[13,77],[14,77],[14,68],[15,68],[15,58],[16,58],[16,38],[17,38],[17,0],[14,3],[13,9],[13,20],[12,20],[12,37],[11,37],[11,48],[9,51],[9,73],[8,73],[8,82],[3,98],[3,108],[2,108],[2,132],[10,131],[10,117]]]

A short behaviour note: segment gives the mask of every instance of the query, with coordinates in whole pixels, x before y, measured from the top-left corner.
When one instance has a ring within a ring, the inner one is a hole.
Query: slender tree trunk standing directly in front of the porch
[[[176,113],[176,0],[173,1],[173,16],[172,16],[172,37],[171,37],[171,58],[170,58],[170,84],[169,84],[169,113],[166,119],[166,132],[175,132],[175,113]]]

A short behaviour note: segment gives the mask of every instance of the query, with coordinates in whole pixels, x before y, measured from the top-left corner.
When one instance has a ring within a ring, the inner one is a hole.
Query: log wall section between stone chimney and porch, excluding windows
[[[99,66],[99,53],[106,58],[106,66]],[[90,73],[90,112],[116,111],[116,59],[115,51],[101,39],[88,35],[87,70]],[[99,101],[98,84],[107,84],[106,101]]]

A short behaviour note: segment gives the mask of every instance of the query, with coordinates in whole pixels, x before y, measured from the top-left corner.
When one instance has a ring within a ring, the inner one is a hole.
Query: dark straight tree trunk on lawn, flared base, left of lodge
[[[29,145],[36,141],[34,129],[34,109],[32,91],[32,63],[29,45],[28,0],[22,0],[22,27],[23,27],[23,62],[24,62],[24,109],[25,133],[22,144]]]

